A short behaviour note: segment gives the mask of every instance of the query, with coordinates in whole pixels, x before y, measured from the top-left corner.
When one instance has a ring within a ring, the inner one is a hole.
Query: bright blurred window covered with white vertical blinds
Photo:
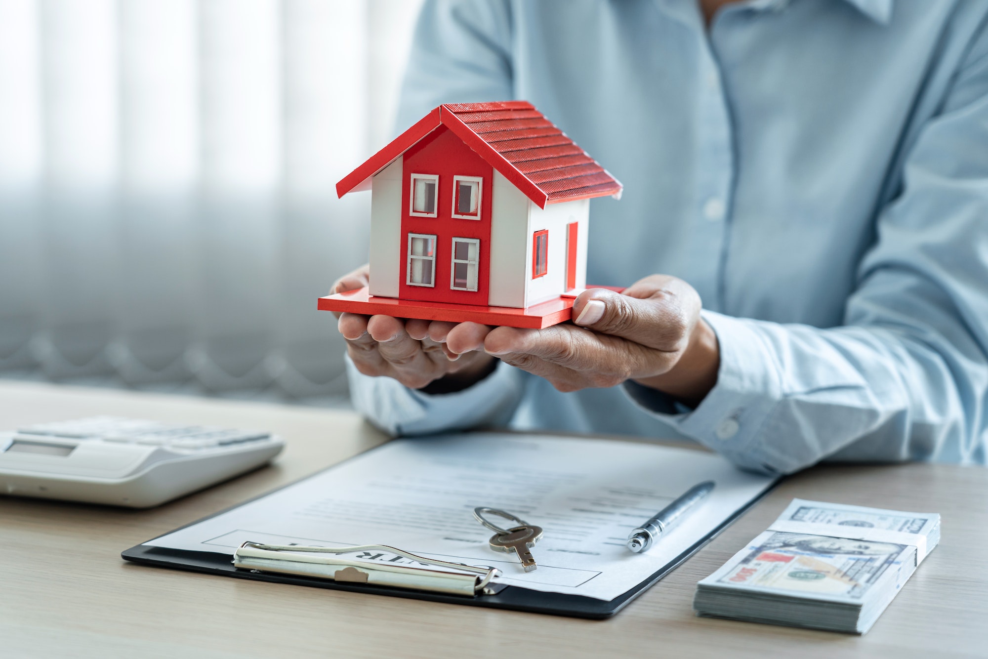
[[[0,0],[0,377],[339,402],[416,0]]]

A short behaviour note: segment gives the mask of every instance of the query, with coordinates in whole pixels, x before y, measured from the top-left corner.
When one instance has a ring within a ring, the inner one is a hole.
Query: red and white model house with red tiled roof
[[[524,101],[440,106],[337,184],[340,197],[367,189],[367,301],[401,310],[363,312],[454,320],[467,318],[450,305],[568,309],[586,286],[589,200],[621,192]],[[320,308],[334,297],[358,300]]]

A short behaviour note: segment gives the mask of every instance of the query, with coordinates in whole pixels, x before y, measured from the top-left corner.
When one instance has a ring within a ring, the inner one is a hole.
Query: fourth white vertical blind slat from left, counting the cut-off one
[[[200,5],[205,322],[192,356],[210,389],[270,379],[283,183],[278,8],[274,0]]]

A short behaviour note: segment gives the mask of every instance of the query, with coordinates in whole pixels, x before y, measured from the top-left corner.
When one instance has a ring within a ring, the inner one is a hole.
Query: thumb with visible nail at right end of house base
[[[695,291],[692,296],[688,292],[660,289],[639,298],[594,288],[577,297],[573,322],[648,348],[667,352],[684,350],[700,317],[700,296]],[[696,297],[695,303],[691,297]]]

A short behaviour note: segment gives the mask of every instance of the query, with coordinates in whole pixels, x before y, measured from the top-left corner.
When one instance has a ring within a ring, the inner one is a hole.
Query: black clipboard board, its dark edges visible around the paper
[[[378,447],[379,448],[379,447]],[[374,451],[375,449],[371,449]],[[362,454],[362,453],[359,453]],[[344,460],[346,462],[347,460]],[[201,522],[222,515],[226,512],[239,508],[257,499],[269,496],[286,487],[290,487],[308,478],[313,478],[325,471],[331,470],[343,462],[334,464],[325,469],[321,469],[314,474],[305,476],[296,481],[288,483],[271,492],[266,492],[252,499],[231,506],[213,515],[208,515],[200,520],[187,524],[178,529],[174,529],[167,534],[175,533],[181,529],[195,526]],[[237,569],[229,554],[215,553],[211,551],[190,551],[184,549],[170,549],[166,547],[156,547],[146,544],[137,544],[121,552],[124,560],[133,561],[142,565],[153,565],[155,567],[168,567],[178,570],[189,570],[192,572],[204,572],[206,574],[217,574],[237,579],[251,579],[254,581],[267,581],[271,583],[290,584],[293,586],[311,586],[313,588],[326,588],[329,590],[348,591],[351,593],[368,593],[371,595],[386,595],[390,597],[400,597],[412,600],[425,600],[427,602],[443,602],[446,604],[458,604],[467,607],[487,607],[490,609],[507,609],[511,611],[524,611],[533,614],[549,614],[552,616],[566,616],[570,618],[590,618],[604,619],[611,618],[618,611],[623,609],[631,600],[635,599],[664,576],[679,567],[690,556],[697,553],[704,544],[720,535],[727,527],[734,523],[739,517],[746,513],[752,506],[762,499],[773,487],[779,483],[775,480],[765,487],[756,497],[747,503],[743,508],[736,511],[729,518],[724,520],[710,534],[700,538],[686,551],[678,555],[673,560],[662,566],[647,579],[626,591],[614,600],[598,600],[596,598],[583,597],[579,595],[563,595],[561,593],[544,593],[541,591],[529,590],[519,586],[495,585],[496,591],[492,595],[475,595],[473,597],[446,595],[429,591],[418,591],[404,588],[388,588],[382,586],[372,586],[365,584],[353,584],[336,582],[328,579],[317,579],[291,574],[280,574],[273,572],[255,572],[252,570]],[[156,539],[156,538],[151,538]],[[150,540],[148,540],[150,541]]]

